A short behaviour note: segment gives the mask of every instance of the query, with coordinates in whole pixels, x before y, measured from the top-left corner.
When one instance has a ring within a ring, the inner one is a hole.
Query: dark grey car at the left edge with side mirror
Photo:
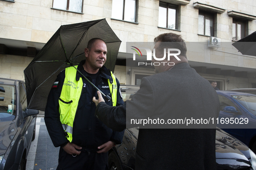
[[[0,170],[25,170],[38,110],[27,109],[25,82],[0,78]]]

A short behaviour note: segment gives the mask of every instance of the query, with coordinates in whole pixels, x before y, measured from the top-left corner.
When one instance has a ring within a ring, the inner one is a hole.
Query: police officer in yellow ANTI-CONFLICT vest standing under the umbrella
[[[112,100],[123,104],[119,82],[105,66],[107,46],[93,38],[84,49],[86,60],[77,69]],[[73,67],[55,80],[45,108],[45,125],[55,147],[60,147],[57,170],[105,170],[108,151],[123,139],[94,116],[97,90]]]

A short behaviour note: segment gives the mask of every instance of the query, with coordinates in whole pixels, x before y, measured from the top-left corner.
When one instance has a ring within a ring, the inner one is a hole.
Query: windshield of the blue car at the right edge
[[[233,95],[231,96],[240,104],[243,105],[247,110],[256,115],[256,96],[250,95]]]

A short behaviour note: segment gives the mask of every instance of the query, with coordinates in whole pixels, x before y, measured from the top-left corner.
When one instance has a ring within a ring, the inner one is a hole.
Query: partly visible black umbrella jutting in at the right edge
[[[232,45],[243,55],[256,56],[256,31]]]

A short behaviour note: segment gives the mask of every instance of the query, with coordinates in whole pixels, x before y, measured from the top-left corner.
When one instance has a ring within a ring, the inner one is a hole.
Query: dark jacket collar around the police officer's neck
[[[87,72],[84,70],[84,65],[85,63],[85,60],[82,60],[79,65],[78,65],[78,70],[85,76],[85,77],[90,77]],[[80,79],[80,77],[84,77],[81,75],[80,72],[76,72],[76,81],[78,81]],[[112,76],[111,76],[111,73],[110,73],[110,70],[107,69],[107,67],[105,66],[102,66],[100,69],[99,69],[99,72],[100,72],[100,77],[104,78],[104,79],[109,79],[110,81],[113,81],[112,79]]]

